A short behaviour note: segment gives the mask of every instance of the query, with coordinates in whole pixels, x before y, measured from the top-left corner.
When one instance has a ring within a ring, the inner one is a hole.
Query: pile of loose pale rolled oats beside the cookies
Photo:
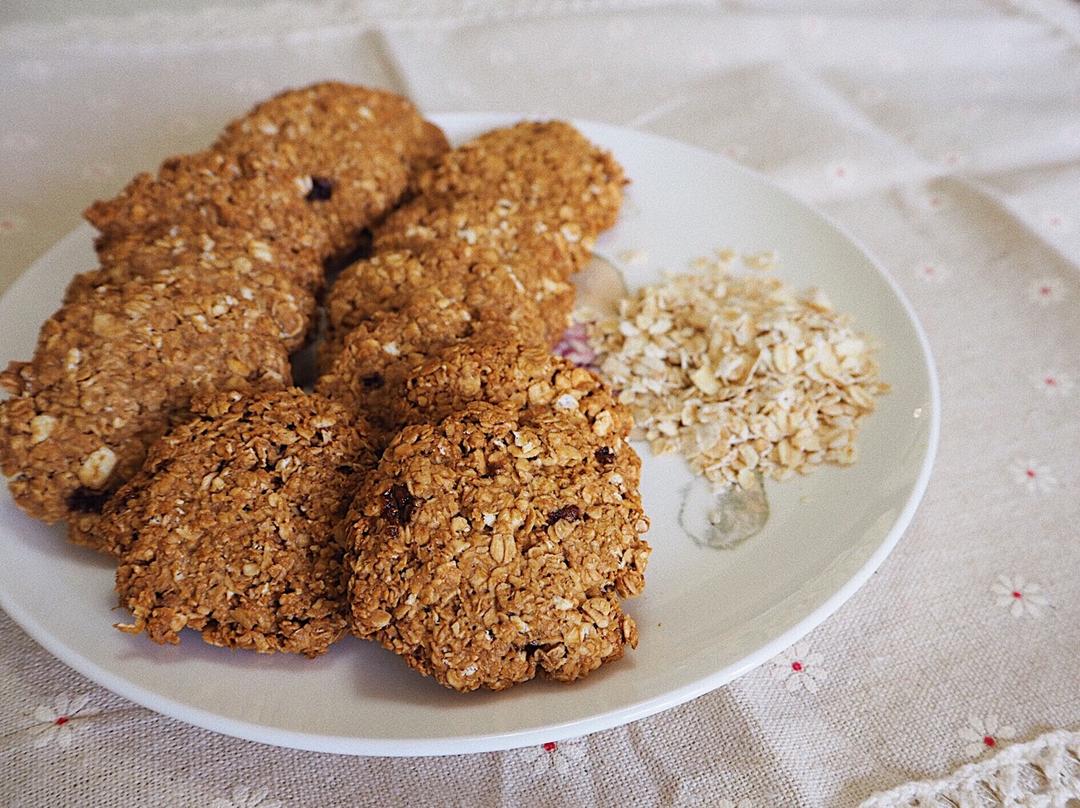
[[[888,390],[868,339],[821,292],[735,277],[723,256],[694,266],[590,326],[636,436],[718,487],[854,462],[860,423]]]

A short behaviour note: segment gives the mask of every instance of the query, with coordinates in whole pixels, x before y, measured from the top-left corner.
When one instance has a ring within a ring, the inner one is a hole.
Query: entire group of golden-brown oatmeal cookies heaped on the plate
[[[637,639],[631,419],[552,355],[618,214],[559,122],[447,151],[404,99],[284,93],[87,218],[30,362],[0,376],[16,502],[119,558],[119,627],[316,656],[347,631],[458,690],[572,681]],[[324,266],[315,392],[291,387]]]

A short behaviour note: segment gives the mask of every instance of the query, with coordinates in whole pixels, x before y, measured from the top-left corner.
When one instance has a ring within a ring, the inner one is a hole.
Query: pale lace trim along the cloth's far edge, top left
[[[0,50],[16,53],[57,48],[190,51],[235,48],[279,40],[305,42],[324,33],[340,37],[409,27],[447,28],[507,19],[618,12],[661,5],[711,5],[711,0],[270,0],[230,9],[224,5],[187,12],[152,11],[123,16],[75,16],[56,23],[23,23],[0,29]]]

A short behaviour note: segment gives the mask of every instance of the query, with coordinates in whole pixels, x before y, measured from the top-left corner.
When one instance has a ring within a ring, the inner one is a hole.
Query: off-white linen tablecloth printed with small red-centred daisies
[[[0,804],[855,805],[966,764],[924,792],[1080,798],[1080,6],[50,9],[0,29],[0,287],[136,171],[338,78],[427,111],[636,126],[765,173],[910,297],[943,428],[906,536],[825,624],[711,695],[554,748],[376,759],[216,736],[96,687],[0,615]]]

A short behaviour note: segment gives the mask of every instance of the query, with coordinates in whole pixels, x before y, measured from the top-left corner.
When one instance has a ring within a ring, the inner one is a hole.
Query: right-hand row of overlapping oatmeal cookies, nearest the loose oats
[[[623,184],[566,123],[487,133],[421,172],[329,289],[315,390],[382,450],[345,525],[352,630],[458,690],[572,681],[637,642],[631,418],[550,351]]]

